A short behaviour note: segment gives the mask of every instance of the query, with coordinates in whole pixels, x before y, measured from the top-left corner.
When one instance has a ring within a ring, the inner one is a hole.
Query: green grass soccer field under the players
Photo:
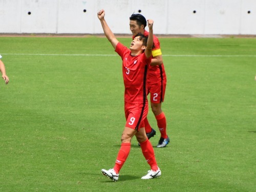
[[[130,38],[118,38],[129,46]],[[0,191],[256,191],[256,39],[160,38],[170,144],[136,139],[118,182],[121,59],[101,37],[0,37]],[[153,113],[148,120],[157,129]],[[159,131],[151,139],[159,140]]]

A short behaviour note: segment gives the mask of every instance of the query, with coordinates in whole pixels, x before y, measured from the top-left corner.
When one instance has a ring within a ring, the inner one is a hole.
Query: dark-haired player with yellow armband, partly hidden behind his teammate
[[[145,30],[146,19],[141,14],[132,14],[130,17],[130,30],[133,33],[133,37],[142,33],[144,36],[148,36],[148,32]],[[169,137],[166,133],[166,118],[163,113],[161,106],[164,101],[165,87],[166,87],[166,74],[163,65],[162,52],[160,49],[160,42],[154,35],[154,47],[152,50],[152,61],[148,67],[147,74],[147,88],[150,93],[151,109],[154,113],[158,129],[161,133],[160,140],[158,141],[157,147],[165,147],[169,143]],[[152,129],[147,118],[144,120],[145,131],[147,138],[154,137],[156,131]]]

